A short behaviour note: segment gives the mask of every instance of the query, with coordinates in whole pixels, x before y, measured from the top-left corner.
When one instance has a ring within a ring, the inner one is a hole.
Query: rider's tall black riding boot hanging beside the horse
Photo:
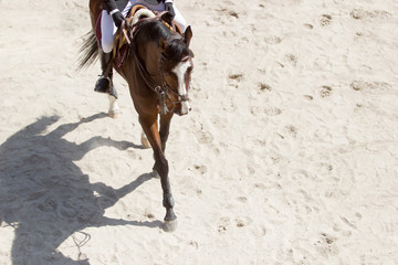
[[[102,75],[95,83],[94,91],[100,92],[100,93],[111,93],[112,91],[115,91],[115,88],[113,87],[113,82],[112,82],[112,76],[113,76],[113,72],[112,72],[113,67],[111,65],[112,52],[104,53],[101,51],[100,52],[100,62],[101,62]]]

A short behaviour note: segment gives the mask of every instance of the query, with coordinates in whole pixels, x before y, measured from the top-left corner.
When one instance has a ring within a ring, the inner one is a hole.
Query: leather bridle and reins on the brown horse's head
[[[156,81],[154,81],[154,78],[150,76],[150,74],[148,73],[148,71],[146,70],[146,67],[144,66],[142,60],[139,59],[138,55],[138,46],[136,45],[136,36],[137,33],[139,32],[139,25],[143,23],[143,21],[148,21],[148,20],[161,20],[159,17],[155,17],[151,19],[143,19],[139,20],[137,23],[135,23],[133,25],[133,30],[128,30],[129,33],[129,45],[130,45],[130,50],[133,51],[133,55],[134,55],[134,61],[136,62],[138,72],[140,74],[140,76],[143,77],[144,82],[146,83],[146,85],[157,94],[158,99],[159,99],[159,105],[160,105],[160,114],[168,114],[170,112],[177,113],[177,108],[176,105],[181,104],[184,102],[188,102],[189,97],[188,97],[188,91],[189,87],[187,88],[187,94],[186,95],[180,95],[178,92],[174,91],[166,82],[165,80],[165,61],[166,61],[166,56],[165,54],[160,53],[159,56],[159,61],[158,61],[158,68],[159,68],[159,76],[160,76],[160,84],[158,84]],[[172,40],[182,40],[182,36],[178,33],[174,33],[172,35],[170,35],[166,42],[170,42]],[[192,62],[192,59],[190,55],[184,57],[181,61],[187,61],[189,60],[190,62]],[[174,100],[170,97],[170,94],[177,96],[177,100]],[[169,102],[171,102],[172,104],[172,109],[169,110],[166,104],[166,99],[169,99]]]

